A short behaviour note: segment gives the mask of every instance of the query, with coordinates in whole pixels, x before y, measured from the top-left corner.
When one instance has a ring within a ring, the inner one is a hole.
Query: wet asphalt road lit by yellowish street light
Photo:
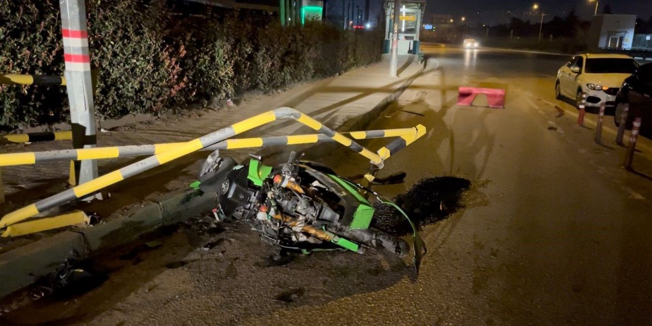
[[[424,228],[430,251],[417,280],[409,259],[378,252],[266,267],[269,247],[246,226],[181,226],[91,264],[108,273],[102,286],[36,301],[1,324],[652,325],[652,181],[621,169],[613,136],[596,145],[574,109],[554,100],[554,74],[567,58],[424,52],[426,72],[370,128],[421,123],[428,134],[381,171],[406,171],[406,183],[376,190],[394,196],[443,175],[474,186],[465,209]],[[460,85],[503,87],[506,108],[456,106]],[[635,158],[644,174],[647,148]],[[343,175],[366,168],[344,151],[308,156]]]

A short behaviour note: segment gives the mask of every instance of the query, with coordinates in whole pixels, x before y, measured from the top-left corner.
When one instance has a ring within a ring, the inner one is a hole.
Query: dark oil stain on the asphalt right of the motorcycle
[[[471,187],[471,181],[458,177],[422,179],[408,192],[396,196],[394,202],[421,228],[452,215],[460,208],[462,194]],[[372,226],[394,235],[412,232],[409,222],[390,205],[375,205]]]

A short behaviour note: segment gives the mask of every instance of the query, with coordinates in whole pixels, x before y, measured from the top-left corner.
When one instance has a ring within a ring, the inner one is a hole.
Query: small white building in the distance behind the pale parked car
[[[598,49],[631,50],[636,15],[593,16],[587,39],[589,51]]]

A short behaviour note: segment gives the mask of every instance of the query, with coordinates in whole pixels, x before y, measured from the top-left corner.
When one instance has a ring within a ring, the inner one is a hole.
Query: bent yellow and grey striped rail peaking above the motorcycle
[[[363,155],[370,160],[371,164],[378,168],[383,167],[384,160],[383,156],[381,156],[380,153],[383,153],[385,157],[389,157],[389,155],[391,155],[393,152],[395,153],[398,151],[398,149],[405,147],[408,144],[408,141],[414,141],[425,133],[424,126],[417,126],[417,132],[413,136],[402,136],[402,139],[396,140],[397,142],[393,142],[394,145],[391,145],[391,148],[383,147],[384,150],[381,149],[381,151],[379,151],[377,154],[359,145],[359,143],[356,141],[347,138],[343,134],[328,128],[327,126],[323,125],[312,117],[305,115],[304,113],[294,110],[293,108],[278,108],[276,110],[267,111],[254,117],[250,117],[249,119],[245,119],[239,123],[235,123],[215,132],[211,132],[210,134],[206,134],[200,138],[196,138],[185,143],[179,143],[178,145],[175,145],[166,151],[156,153],[153,156],[144,158],[143,160],[125,166],[124,168],[102,175],[97,179],[93,179],[81,185],[74,186],[73,188],[59,192],[59,194],[55,194],[45,198],[44,200],[37,201],[36,203],[27,205],[21,209],[8,213],[0,219],[0,228],[6,228],[11,224],[22,222],[23,220],[38,215],[44,211],[47,211],[48,209],[58,207],[78,198],[83,198],[89,194],[93,194],[98,190],[101,190],[102,188],[106,188],[107,186],[119,183],[120,181],[123,181],[124,179],[132,177],[138,173],[151,170],[156,166],[166,164],[167,162],[175,160],[176,158],[180,158],[195,151],[199,151],[200,149],[209,147],[220,141],[227,140],[228,138],[231,138],[237,134],[241,134],[258,126],[266,125],[267,123],[271,123],[280,119],[295,119],[297,122],[317,130],[319,133],[324,134],[328,138],[331,138],[333,141],[336,141],[355,151],[356,153]]]

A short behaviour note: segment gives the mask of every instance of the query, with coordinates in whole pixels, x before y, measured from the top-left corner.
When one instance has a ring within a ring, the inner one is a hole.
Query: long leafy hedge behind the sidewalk
[[[87,13],[98,119],[332,76],[378,61],[383,37],[265,16],[180,15],[164,0],[87,0]],[[63,74],[59,20],[59,1],[0,0],[0,72]],[[65,87],[0,85],[0,130],[67,119]]]

